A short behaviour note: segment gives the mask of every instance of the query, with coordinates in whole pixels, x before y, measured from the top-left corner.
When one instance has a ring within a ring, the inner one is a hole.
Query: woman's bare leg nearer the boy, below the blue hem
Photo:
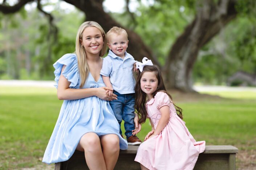
[[[103,135],[101,146],[107,170],[113,170],[119,156],[119,137],[115,134]]]

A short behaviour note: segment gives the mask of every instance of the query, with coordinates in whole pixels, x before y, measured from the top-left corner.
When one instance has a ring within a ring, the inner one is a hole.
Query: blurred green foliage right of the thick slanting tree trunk
[[[206,44],[194,65],[194,81],[221,85],[237,71],[255,73],[255,23],[248,17],[238,17]]]

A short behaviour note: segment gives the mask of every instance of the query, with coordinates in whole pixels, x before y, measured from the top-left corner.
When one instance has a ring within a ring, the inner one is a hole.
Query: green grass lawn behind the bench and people
[[[0,87],[0,169],[53,168],[41,161],[62,104],[56,92],[54,88]],[[173,96],[195,139],[205,140],[207,145],[234,145],[242,153],[255,152],[256,93],[208,94],[222,98],[193,95],[187,100],[190,94]],[[144,139],[150,129],[147,121],[138,137]],[[246,164],[239,157],[237,163]],[[256,165],[255,159],[249,163]]]

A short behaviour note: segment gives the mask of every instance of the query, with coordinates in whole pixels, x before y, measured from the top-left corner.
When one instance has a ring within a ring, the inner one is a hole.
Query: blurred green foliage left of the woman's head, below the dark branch
[[[26,11],[22,8],[19,13],[3,16],[0,66],[6,65],[0,67],[0,78],[53,80],[52,64],[62,55],[75,51],[76,32],[84,20],[84,15],[77,10],[67,13],[54,7],[52,15],[58,27],[57,41],[48,38],[48,20],[36,9]]]

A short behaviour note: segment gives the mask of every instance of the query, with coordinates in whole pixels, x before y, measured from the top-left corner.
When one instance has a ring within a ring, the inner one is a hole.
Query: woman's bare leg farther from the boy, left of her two
[[[76,149],[85,152],[85,160],[90,170],[106,170],[101,141],[96,133],[89,132],[84,134]]]

